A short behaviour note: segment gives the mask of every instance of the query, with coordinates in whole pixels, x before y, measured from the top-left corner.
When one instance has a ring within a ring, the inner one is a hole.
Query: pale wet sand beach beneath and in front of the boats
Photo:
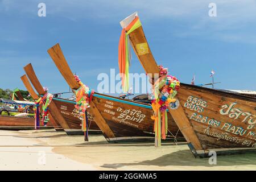
[[[0,170],[256,170],[256,155],[195,159],[187,144],[109,144],[102,135],[0,130]]]

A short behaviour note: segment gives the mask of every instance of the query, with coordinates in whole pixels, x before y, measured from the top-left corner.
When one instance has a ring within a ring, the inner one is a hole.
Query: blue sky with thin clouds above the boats
[[[38,4],[46,3],[46,17]],[[209,17],[209,3],[217,17]],[[6,1],[0,0],[0,88],[24,89],[20,76],[32,63],[50,92],[68,85],[47,49],[60,43],[73,72],[96,89],[97,75],[118,70],[119,21],[138,11],[151,51],[171,75],[216,88],[256,90],[255,1]],[[131,73],[144,72],[133,55]]]

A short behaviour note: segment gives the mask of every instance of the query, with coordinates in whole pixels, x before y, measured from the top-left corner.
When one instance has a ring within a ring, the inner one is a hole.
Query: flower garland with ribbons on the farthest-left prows
[[[47,126],[47,123],[49,121],[49,109],[48,106],[51,104],[52,101],[52,94],[46,93],[44,94],[43,97],[40,97],[39,100],[35,102],[36,104],[36,109],[35,109],[35,129],[39,129],[40,126],[40,105],[43,104],[42,106],[42,124],[44,126]]]

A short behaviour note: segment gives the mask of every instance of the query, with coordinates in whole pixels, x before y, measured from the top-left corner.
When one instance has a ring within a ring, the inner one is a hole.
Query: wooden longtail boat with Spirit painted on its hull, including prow
[[[80,85],[75,80],[59,44],[50,48],[48,53],[68,85],[72,89],[78,89]],[[87,111],[109,142],[154,139],[154,121],[150,118],[153,113],[149,104],[94,93]],[[169,118],[167,137],[183,139],[174,120]]]

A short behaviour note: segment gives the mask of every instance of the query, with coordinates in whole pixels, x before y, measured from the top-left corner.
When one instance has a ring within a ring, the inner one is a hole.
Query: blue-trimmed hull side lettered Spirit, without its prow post
[[[116,138],[140,137],[154,138],[154,120],[149,104],[142,104],[121,98],[94,94],[93,103],[113,131]],[[174,119],[168,113],[168,138],[183,138]],[[125,138],[124,138],[125,139]]]

